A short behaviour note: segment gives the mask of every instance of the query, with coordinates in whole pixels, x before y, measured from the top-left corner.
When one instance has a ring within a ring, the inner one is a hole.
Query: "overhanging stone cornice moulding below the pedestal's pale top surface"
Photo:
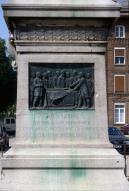
[[[4,4],[4,16],[8,17],[47,17],[47,18],[114,18],[120,17],[117,6],[73,6],[73,5],[29,5]],[[35,14],[34,14],[35,12]]]

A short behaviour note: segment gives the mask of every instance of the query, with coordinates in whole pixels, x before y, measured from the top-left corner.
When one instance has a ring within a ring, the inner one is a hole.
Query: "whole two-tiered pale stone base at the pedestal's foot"
[[[114,149],[13,148],[4,154],[0,191],[128,191]]]

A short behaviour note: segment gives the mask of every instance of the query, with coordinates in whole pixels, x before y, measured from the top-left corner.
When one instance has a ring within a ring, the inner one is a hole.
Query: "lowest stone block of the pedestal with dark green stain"
[[[4,169],[1,191],[128,191],[121,169]]]

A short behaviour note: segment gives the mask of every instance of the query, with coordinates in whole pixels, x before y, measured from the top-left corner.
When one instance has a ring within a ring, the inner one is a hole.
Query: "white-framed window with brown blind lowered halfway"
[[[114,48],[114,64],[125,64],[125,48]]]

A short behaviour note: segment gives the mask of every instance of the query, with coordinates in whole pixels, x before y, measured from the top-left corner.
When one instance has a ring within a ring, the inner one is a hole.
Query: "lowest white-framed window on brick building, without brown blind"
[[[115,124],[125,123],[125,104],[115,103],[114,105],[114,122]]]

